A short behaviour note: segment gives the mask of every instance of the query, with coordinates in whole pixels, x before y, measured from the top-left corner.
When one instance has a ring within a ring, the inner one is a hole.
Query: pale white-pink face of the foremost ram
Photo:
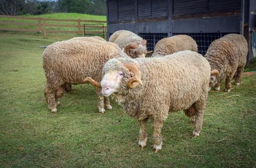
[[[111,72],[106,72],[100,82],[101,93],[105,97],[110,96],[112,93],[118,92],[120,82],[123,79],[123,72],[114,70]]]

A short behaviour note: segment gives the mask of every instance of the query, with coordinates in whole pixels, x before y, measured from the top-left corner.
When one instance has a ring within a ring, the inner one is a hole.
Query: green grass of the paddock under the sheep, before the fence
[[[113,101],[113,110],[99,114],[90,85],[73,86],[60,99],[57,114],[48,109],[44,49],[39,46],[69,38],[0,34],[0,167],[255,165],[256,75],[244,75],[242,85],[232,86],[230,93],[209,93],[199,137],[191,138],[193,126],[183,112],[170,113],[162,129],[162,151],[153,151],[150,123],[148,144],[141,151],[137,121]]]

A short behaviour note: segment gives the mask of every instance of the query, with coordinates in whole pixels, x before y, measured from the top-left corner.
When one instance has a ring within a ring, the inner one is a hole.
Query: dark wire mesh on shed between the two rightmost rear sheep
[[[188,35],[192,37],[198,45],[198,52],[205,55],[210,43],[230,33],[173,33],[175,35]]]

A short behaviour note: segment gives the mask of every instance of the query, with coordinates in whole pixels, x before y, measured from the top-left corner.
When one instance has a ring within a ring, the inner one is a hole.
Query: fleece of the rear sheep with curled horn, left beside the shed
[[[133,32],[125,30],[117,31],[110,36],[109,41],[117,44],[120,48],[125,48],[125,46],[130,44],[139,45],[138,48],[131,49],[130,53],[131,55],[134,55],[132,58],[137,58],[137,54],[144,53],[146,55],[146,46],[142,45],[143,39]]]

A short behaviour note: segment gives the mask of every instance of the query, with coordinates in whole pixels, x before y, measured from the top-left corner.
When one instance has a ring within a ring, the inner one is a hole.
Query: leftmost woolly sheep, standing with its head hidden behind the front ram
[[[47,79],[44,93],[50,110],[57,111],[58,98],[63,95],[67,83],[82,84],[86,76],[93,76],[100,81],[104,63],[115,57],[128,56],[116,44],[110,42],[68,40],[49,45],[43,53],[43,67]],[[109,98],[104,100],[100,90],[96,90],[96,94],[100,113],[105,111],[104,102],[107,109],[112,108]]]

